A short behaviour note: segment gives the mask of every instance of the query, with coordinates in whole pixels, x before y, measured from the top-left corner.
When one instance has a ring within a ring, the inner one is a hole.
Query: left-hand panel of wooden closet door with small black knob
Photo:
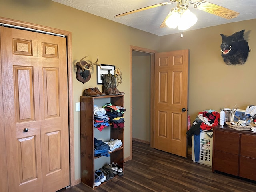
[[[28,31],[0,30],[9,191],[41,191],[37,37]]]

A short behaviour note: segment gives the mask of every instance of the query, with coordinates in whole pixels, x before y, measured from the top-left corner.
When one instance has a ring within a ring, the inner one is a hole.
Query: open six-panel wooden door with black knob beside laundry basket
[[[188,50],[155,54],[154,148],[187,157]]]

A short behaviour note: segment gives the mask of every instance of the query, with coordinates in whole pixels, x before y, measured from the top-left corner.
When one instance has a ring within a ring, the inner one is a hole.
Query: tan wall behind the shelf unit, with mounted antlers
[[[130,156],[130,45],[158,50],[160,37],[52,2],[50,0],[0,0],[0,17],[30,22],[72,32],[74,64],[89,55],[88,60],[118,66],[125,92],[124,157]],[[82,84],[73,72],[74,106],[86,88],[97,86],[96,70],[91,80]],[[102,86],[98,86],[100,90]],[[80,178],[80,112],[74,109],[75,179]]]

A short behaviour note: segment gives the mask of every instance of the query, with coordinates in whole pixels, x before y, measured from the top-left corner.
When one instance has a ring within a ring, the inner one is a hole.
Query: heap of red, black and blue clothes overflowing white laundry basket
[[[209,109],[202,112],[199,112],[194,120],[191,128],[186,132],[187,136],[194,135],[194,154],[195,161],[199,161],[200,153],[200,132],[206,131],[208,136],[212,136],[214,126],[219,124],[220,113]]]

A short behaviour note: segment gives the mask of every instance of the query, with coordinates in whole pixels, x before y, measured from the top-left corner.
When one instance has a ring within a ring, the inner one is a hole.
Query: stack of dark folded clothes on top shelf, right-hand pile
[[[103,106],[106,110],[106,115],[109,118],[109,122],[113,124],[114,128],[123,128],[124,127],[124,117],[123,114],[126,111],[124,107],[112,105],[107,103]]]

